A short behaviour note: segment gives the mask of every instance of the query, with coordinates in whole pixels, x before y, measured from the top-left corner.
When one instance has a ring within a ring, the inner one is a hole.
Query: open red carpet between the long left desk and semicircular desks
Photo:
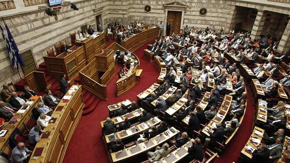
[[[108,100],[100,101],[92,113],[81,119],[68,146],[64,162],[109,162],[101,137],[100,121],[105,120],[108,116],[108,104],[117,103],[125,99],[136,101],[137,94],[157,81],[159,72],[153,65],[153,62],[150,63],[143,59],[143,49],[147,48],[147,44],[152,43],[152,41],[145,43],[134,51],[140,60],[140,69],[143,69],[139,82],[129,92],[117,97],[115,82],[118,80],[118,75],[115,74],[113,79],[108,83]],[[116,72],[119,70],[120,66],[117,67]],[[94,104],[96,103],[93,102],[92,105]]]

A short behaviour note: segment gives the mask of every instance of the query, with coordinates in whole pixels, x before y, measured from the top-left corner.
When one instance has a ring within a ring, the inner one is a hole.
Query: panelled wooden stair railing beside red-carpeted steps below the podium
[[[94,81],[90,77],[86,76],[82,72],[79,72],[81,85],[98,96],[101,99],[108,99],[107,98],[107,86],[99,84],[98,82]]]

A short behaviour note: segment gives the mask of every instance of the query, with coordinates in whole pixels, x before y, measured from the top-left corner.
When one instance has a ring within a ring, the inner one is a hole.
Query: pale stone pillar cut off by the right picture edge
[[[279,42],[277,51],[279,52],[287,52],[290,49],[290,20],[288,21],[288,24],[284,30],[284,33],[281,37],[281,40]]]

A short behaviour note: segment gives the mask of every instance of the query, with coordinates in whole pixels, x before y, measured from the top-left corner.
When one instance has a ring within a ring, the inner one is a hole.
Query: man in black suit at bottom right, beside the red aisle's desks
[[[270,156],[270,150],[266,144],[260,144],[252,154],[253,163],[265,163],[268,162]]]

